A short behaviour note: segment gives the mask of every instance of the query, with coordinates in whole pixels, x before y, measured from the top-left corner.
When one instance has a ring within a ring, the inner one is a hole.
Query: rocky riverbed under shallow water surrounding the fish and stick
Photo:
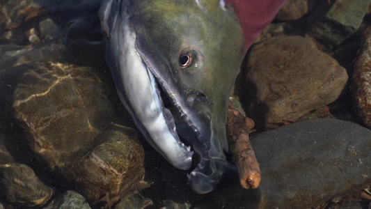
[[[370,208],[368,6],[287,1],[231,95],[255,122],[260,187],[231,171],[200,195],[120,104],[100,31],[66,46],[68,15],[1,1],[0,208]]]

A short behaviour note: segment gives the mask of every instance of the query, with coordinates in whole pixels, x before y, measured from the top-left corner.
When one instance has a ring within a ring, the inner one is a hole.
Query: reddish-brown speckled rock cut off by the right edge
[[[371,128],[371,27],[366,29],[352,75],[354,111]]]

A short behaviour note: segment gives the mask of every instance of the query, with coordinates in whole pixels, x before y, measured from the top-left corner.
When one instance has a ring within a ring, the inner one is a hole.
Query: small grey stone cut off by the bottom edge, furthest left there
[[[90,206],[81,194],[67,191],[54,198],[42,209],[90,209]]]

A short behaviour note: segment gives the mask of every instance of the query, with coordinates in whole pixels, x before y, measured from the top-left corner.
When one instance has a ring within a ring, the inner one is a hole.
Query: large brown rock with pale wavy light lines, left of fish
[[[87,153],[97,125],[109,123],[107,117],[113,114],[107,111],[109,102],[92,105],[96,101],[92,98],[102,94],[101,88],[95,88],[99,84],[89,68],[37,63],[15,89],[15,117],[30,135],[31,148],[51,167],[61,167],[74,155]]]

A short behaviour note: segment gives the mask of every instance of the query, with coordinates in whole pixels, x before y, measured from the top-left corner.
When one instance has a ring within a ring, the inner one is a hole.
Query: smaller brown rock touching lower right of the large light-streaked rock
[[[61,168],[74,189],[93,203],[108,206],[137,191],[144,178],[144,150],[136,132],[127,127],[113,127],[97,137],[102,144],[86,156]]]

